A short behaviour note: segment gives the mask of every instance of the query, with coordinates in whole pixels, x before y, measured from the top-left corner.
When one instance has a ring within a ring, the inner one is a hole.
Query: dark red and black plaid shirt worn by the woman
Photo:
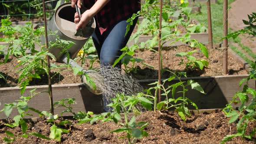
[[[97,0],[84,0],[85,7],[90,9]],[[96,19],[101,34],[108,29],[108,27],[117,23],[118,21],[131,16],[141,10],[140,0],[110,0],[105,7],[97,14]]]

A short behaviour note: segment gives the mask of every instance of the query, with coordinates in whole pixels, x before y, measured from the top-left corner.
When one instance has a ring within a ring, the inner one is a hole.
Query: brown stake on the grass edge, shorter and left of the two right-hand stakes
[[[207,1],[207,16],[208,16],[208,45],[213,49],[213,32],[212,32],[212,17],[211,17],[211,1]]]

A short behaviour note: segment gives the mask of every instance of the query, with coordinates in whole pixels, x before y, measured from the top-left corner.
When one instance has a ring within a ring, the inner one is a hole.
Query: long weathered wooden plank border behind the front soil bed
[[[242,90],[238,83],[241,79],[246,78],[248,75],[221,75],[221,76],[205,76],[205,77],[190,77],[182,78],[182,81],[192,79],[198,82],[207,95],[201,94],[195,90],[189,90],[186,96],[194,101],[199,109],[218,109],[224,108],[225,105],[232,100],[235,92]],[[144,87],[148,88],[150,83],[156,82],[157,79],[138,80],[138,82]],[[167,83],[171,85],[177,82],[174,79],[172,82]],[[255,80],[249,81],[249,87],[255,88]],[[39,86],[27,86],[23,96],[29,96],[30,90],[37,88],[36,92],[47,91],[47,85]],[[177,88],[177,91],[179,89]],[[20,88],[0,88],[0,109],[3,109],[5,103],[12,103],[20,97]],[[75,98],[76,102],[73,105],[73,110],[77,111],[93,111],[95,114],[103,112],[102,108],[102,95],[94,95],[83,84],[65,84],[65,85],[53,85],[53,100],[59,101],[63,98]],[[49,96],[47,93],[40,93],[31,99],[29,106],[38,109],[39,111],[49,110]],[[239,106],[233,105],[234,107]],[[189,107],[193,109],[193,107]],[[62,108],[55,110],[56,114],[60,114]],[[36,113],[31,112],[33,117],[38,116]],[[18,114],[18,111],[13,111],[10,118],[13,118]],[[66,116],[70,115],[68,113]],[[0,113],[0,119],[5,119],[6,116]]]

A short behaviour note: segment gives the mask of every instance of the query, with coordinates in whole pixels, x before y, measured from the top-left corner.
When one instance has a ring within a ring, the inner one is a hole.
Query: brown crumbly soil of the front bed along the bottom
[[[72,121],[72,120],[71,120]],[[182,121],[177,113],[163,111],[147,111],[139,115],[136,121],[148,121],[149,124],[144,130],[148,132],[148,137],[135,140],[138,144],[218,144],[227,134],[236,133],[236,124],[229,124],[222,111],[213,111],[200,115],[192,115],[186,122]],[[63,144],[127,144],[127,139],[118,139],[125,136],[124,133],[111,133],[109,131],[120,128],[114,122],[95,124],[71,125],[70,132],[62,134]],[[256,127],[256,123],[249,123],[246,134]],[[6,137],[4,131],[11,131],[15,135],[22,134],[20,128],[8,128],[0,123],[0,143]],[[69,126],[66,128],[69,129]],[[39,118],[38,121],[30,123],[27,132],[39,132],[49,137],[50,124],[46,120]],[[254,135],[254,141],[256,140]],[[20,137],[14,144],[53,144],[59,143],[54,140],[43,140],[35,136],[29,138]],[[235,137],[227,144],[255,144],[253,141]]]

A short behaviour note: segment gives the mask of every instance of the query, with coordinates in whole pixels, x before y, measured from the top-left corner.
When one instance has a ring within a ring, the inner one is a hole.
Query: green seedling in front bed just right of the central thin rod
[[[169,71],[171,72],[171,71]],[[187,105],[191,104],[194,106],[194,108],[197,108],[197,105],[191,101],[189,98],[186,97],[186,92],[188,91],[188,87],[191,87],[191,89],[197,90],[198,92],[201,92],[204,94],[203,88],[193,80],[188,80],[187,82],[181,81],[181,77],[187,77],[185,72],[178,72],[177,74],[174,72],[171,72],[173,75],[171,75],[168,79],[165,79],[163,81],[163,84],[159,85],[158,82],[151,83],[149,85],[156,85],[154,87],[149,88],[147,91],[147,94],[144,94],[147,97],[154,99],[154,111],[156,109],[165,110],[169,108],[174,108],[174,111],[178,112],[178,115],[181,116],[181,119],[183,121],[186,121],[186,117],[190,118],[190,111],[187,108]],[[166,82],[171,82],[174,79],[177,79],[178,82],[174,83],[172,85],[167,86],[167,88],[164,86]],[[177,88],[181,87],[181,91],[176,92]],[[151,93],[151,90],[155,90],[154,96]],[[162,96],[165,96],[164,101],[160,101],[157,104],[157,94],[158,91],[161,90],[163,93]],[[181,94],[180,96],[178,96]],[[171,98],[168,98],[168,95],[171,95]]]

